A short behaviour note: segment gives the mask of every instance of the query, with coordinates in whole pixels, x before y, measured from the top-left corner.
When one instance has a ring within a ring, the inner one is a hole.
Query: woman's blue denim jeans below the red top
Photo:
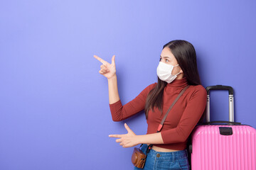
[[[142,152],[146,154],[147,145],[142,145]],[[137,167],[134,167],[136,170]],[[145,170],[162,170],[162,169],[189,169],[188,153],[185,150],[177,152],[156,152],[151,149],[146,157],[146,163],[144,165]]]

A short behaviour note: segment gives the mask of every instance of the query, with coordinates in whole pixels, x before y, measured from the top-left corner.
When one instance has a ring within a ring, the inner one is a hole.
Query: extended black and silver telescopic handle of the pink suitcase
[[[207,86],[206,122],[210,122],[210,90],[228,90],[229,121],[234,122],[234,90],[231,86]]]

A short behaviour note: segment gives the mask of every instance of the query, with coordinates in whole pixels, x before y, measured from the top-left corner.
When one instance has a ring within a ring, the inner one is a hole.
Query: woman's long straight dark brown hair
[[[173,40],[164,45],[164,47],[169,47],[171,50],[171,53],[176,58],[179,67],[181,67],[183,71],[183,77],[186,77],[188,84],[201,84],[196,64],[196,50],[193,45],[186,40]],[[161,81],[161,79],[158,78],[156,87],[149,92],[149,95],[146,98],[146,106],[144,109],[146,118],[150,109],[154,111],[154,107],[158,108],[162,113],[163,94],[166,84],[167,83],[165,81]]]

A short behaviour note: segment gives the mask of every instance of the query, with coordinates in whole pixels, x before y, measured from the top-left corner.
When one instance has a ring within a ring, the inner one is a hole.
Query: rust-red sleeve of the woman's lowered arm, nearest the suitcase
[[[164,144],[185,142],[206,108],[206,89],[198,86],[186,105],[176,128],[161,132]]]

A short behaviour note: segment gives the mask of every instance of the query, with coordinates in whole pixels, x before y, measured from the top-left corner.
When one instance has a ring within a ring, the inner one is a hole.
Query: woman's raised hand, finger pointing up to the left
[[[114,77],[116,75],[116,67],[115,67],[115,63],[114,63],[115,55],[113,55],[113,57],[112,57],[111,64],[106,62],[105,60],[102,60],[102,58],[97,57],[97,55],[94,55],[93,57],[95,57],[95,59],[99,60],[102,63],[102,65],[100,66],[100,71],[99,71],[100,74],[107,77],[107,79],[111,79],[112,77]]]

